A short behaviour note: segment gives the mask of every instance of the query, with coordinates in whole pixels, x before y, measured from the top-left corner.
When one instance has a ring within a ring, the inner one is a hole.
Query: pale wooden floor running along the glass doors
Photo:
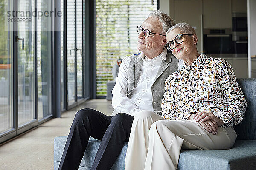
[[[53,142],[56,136],[66,136],[75,113],[81,108],[93,108],[110,115],[111,101],[95,99],[51,119],[38,128],[0,146],[0,170],[53,170]]]

